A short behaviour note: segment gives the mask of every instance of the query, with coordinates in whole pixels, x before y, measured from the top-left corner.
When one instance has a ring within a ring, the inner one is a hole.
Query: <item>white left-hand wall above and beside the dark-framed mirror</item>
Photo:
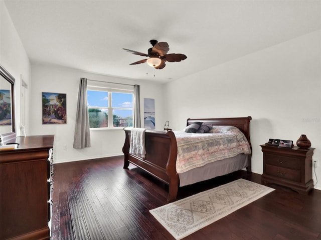
[[[4,1],[0,0],[0,63],[15,78],[16,132],[20,135],[21,77],[29,85],[31,65]],[[30,88],[28,88],[29,91]],[[27,92],[28,94],[28,92]],[[27,115],[28,115],[28,102]],[[28,124],[28,122],[27,122]],[[27,125],[28,129],[28,125]]]

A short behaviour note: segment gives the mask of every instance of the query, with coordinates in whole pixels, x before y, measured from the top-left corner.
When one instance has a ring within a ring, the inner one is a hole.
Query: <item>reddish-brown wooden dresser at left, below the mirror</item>
[[[15,142],[0,150],[0,239],[50,239],[54,135]]]

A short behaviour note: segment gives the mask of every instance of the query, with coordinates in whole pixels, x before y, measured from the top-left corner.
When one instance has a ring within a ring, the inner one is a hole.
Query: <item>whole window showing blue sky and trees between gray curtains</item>
[[[87,100],[89,127],[132,126],[133,90],[88,85]]]

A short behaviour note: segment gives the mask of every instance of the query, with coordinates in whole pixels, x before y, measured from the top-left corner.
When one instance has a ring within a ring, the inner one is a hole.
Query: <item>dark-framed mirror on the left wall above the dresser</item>
[[[15,78],[0,64],[0,133],[16,132]]]

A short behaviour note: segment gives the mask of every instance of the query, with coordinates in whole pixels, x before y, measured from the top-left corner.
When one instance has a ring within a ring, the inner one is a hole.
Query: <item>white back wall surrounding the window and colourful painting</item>
[[[163,119],[163,85],[135,81],[125,78],[88,73],[66,67],[57,67],[41,64],[32,65],[32,92],[30,101],[30,132],[31,135],[55,134],[54,162],[65,162],[83,159],[92,159],[122,154],[122,146],[125,134],[120,130],[91,130],[91,147],[74,149],[74,131],[78,88],[81,77],[93,80],[111,81],[140,85],[141,123],[143,127],[143,99],[155,99],[156,129],[162,129]],[[57,92],[67,94],[67,123],[66,124],[42,124],[42,92]],[[64,146],[67,149],[64,149]]]

